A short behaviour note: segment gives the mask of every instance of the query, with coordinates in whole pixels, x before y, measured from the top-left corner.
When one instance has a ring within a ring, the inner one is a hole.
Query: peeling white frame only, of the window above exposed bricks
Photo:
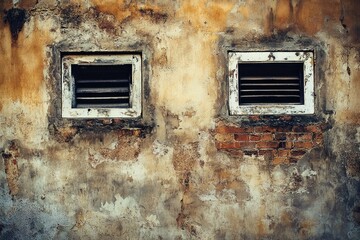
[[[229,52],[229,110],[230,115],[278,115],[314,113],[314,54],[311,51],[293,52]],[[239,104],[239,63],[303,63],[304,104]]]

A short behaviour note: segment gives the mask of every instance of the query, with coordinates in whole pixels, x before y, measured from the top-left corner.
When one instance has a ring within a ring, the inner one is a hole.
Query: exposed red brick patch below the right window
[[[264,156],[274,165],[297,162],[312,148],[322,146],[324,141],[321,124],[242,127],[220,122],[215,133],[219,151]]]

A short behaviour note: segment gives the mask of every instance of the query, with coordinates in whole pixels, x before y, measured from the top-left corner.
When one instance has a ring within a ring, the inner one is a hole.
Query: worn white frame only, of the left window
[[[129,108],[73,108],[75,80],[71,65],[132,65],[132,84],[130,86]],[[101,54],[72,55],[62,58],[62,117],[63,118],[137,118],[141,116],[141,55],[140,54]]]

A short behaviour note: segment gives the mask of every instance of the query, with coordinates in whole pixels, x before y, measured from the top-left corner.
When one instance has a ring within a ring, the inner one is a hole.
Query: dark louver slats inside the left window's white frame
[[[129,108],[132,65],[71,65],[75,108]]]

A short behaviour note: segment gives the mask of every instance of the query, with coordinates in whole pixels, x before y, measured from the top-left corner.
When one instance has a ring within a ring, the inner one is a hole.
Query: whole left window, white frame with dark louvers
[[[65,55],[64,118],[136,118],[141,115],[140,55]]]

